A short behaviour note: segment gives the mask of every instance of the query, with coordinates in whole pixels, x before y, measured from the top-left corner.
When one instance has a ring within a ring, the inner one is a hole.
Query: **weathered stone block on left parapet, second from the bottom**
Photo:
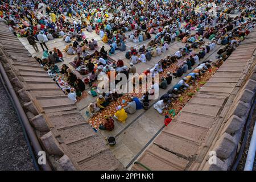
[[[52,131],[41,137],[44,148],[46,148],[48,154],[50,155],[64,155],[63,150],[60,148],[60,144],[57,142]]]

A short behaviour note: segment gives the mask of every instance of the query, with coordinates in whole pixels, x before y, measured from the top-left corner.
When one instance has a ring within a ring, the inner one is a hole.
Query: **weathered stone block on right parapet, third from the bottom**
[[[234,134],[236,131],[241,130],[244,123],[245,119],[241,119],[237,115],[232,115],[226,122],[224,131],[229,134]]]

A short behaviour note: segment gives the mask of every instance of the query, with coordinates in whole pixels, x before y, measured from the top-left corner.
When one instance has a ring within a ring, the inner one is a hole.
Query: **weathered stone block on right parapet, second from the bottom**
[[[224,133],[217,140],[217,143],[213,147],[213,151],[216,151],[217,157],[220,159],[227,159],[237,146],[237,141],[228,133]]]

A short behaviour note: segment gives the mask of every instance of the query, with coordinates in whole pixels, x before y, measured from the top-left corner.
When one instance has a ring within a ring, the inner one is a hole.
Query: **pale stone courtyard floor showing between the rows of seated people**
[[[126,35],[129,35],[131,32],[126,32]],[[98,49],[100,49],[103,45],[105,46],[105,50],[109,49],[108,44],[105,44],[101,41],[100,36],[95,34],[95,32],[89,33],[85,31],[86,39],[95,39],[98,41]],[[152,38],[154,38],[154,35],[152,35]],[[38,56],[42,57],[42,51],[36,53],[32,46],[30,46],[27,42],[26,38],[20,38],[20,41],[23,43],[23,45],[28,49],[28,51],[32,54],[32,56]],[[142,43],[133,43],[133,42],[127,42],[126,48],[127,50],[130,49],[131,46],[140,46],[141,44],[147,45],[147,43],[150,40],[147,40]],[[205,42],[209,42],[209,40],[205,40]],[[61,51],[65,48],[65,46],[68,43],[65,43],[62,39],[54,39],[49,40],[47,43],[47,47],[49,48],[49,51],[52,51],[54,47],[59,48]],[[180,47],[184,47],[185,44],[182,42],[173,42],[170,44],[169,49],[166,53],[162,53],[162,55],[157,57],[152,57],[152,60],[147,61],[147,63],[138,63],[136,64],[137,73],[142,73],[147,68],[154,67],[160,59],[163,59],[167,55],[174,54]],[[220,46],[216,46],[217,50],[220,48]],[[39,45],[39,49],[40,45]],[[94,52],[94,51],[91,51]],[[130,60],[125,58],[126,51],[120,52],[117,51],[114,55],[111,57],[114,60],[118,60],[121,58],[127,67],[130,67]],[[216,51],[209,52],[204,60],[215,60]],[[73,57],[75,55],[67,55],[65,52],[63,52],[64,57],[64,63],[69,66],[69,68],[74,68],[69,64],[71,61],[73,61]],[[201,61],[204,61],[201,60]],[[63,63],[58,63],[57,65],[60,67]],[[196,66],[196,65],[195,65]],[[194,68],[195,68],[194,66]],[[84,78],[85,76],[81,76],[78,72],[76,72],[77,76],[80,78]],[[184,74],[185,75],[185,74]],[[168,85],[168,88],[166,90],[160,89],[159,90],[159,97],[162,96],[164,93],[168,91],[168,89],[171,89],[172,86],[174,86],[180,78],[173,78],[172,83]],[[88,92],[90,89],[86,87],[86,92]],[[89,119],[86,117],[85,111],[87,110],[88,105],[90,102],[95,102],[97,97],[92,97],[88,94],[86,98],[83,98],[81,101],[77,102],[77,108],[81,112],[81,114],[84,116],[84,118],[87,120]],[[150,106],[152,106],[155,101],[151,101]],[[155,135],[158,134],[159,130],[162,130],[164,125],[164,115],[160,115],[157,113],[157,111],[154,109],[154,107],[150,107],[147,111],[144,110],[137,110],[135,114],[128,114],[128,118],[125,123],[119,123],[115,122],[115,129],[113,131],[100,131],[100,135],[102,135],[103,138],[108,138],[109,136],[115,136],[117,138],[117,144],[114,147],[110,147],[110,150],[113,151],[113,154],[117,157],[117,159],[123,164],[125,167],[127,166],[131,161],[133,161],[135,158],[137,158],[137,155],[144,150],[144,147],[147,146],[151,142],[152,138],[155,138]]]

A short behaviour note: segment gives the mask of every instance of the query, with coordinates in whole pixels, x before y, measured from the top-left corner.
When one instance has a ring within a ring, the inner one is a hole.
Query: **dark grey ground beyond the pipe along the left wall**
[[[0,82],[0,171],[34,171],[22,126]]]

